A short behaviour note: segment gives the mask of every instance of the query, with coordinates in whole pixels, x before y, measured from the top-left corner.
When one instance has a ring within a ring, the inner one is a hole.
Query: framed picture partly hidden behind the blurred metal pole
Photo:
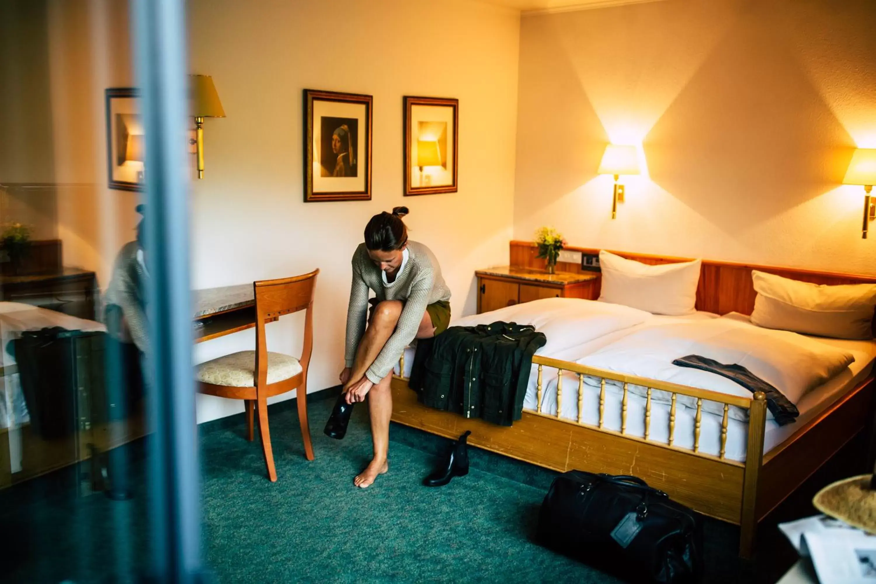
[[[106,90],[109,188],[143,190],[145,144],[140,97],[135,88]]]

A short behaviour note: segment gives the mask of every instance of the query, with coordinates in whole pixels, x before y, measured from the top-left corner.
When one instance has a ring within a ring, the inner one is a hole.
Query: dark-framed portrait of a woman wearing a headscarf
[[[304,90],[304,201],[371,200],[371,101]]]

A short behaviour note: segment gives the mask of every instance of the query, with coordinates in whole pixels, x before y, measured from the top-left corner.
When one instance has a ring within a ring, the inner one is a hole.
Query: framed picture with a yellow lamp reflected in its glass
[[[405,196],[456,193],[459,100],[405,96]]]

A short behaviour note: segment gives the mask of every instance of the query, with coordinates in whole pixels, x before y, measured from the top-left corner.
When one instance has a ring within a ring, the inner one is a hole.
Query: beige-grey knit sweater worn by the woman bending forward
[[[356,349],[365,332],[369,290],[373,290],[381,301],[405,301],[395,332],[365,373],[372,383],[379,383],[399,362],[402,351],[417,335],[426,306],[450,299],[450,289],[444,283],[441,266],[432,251],[422,243],[411,241],[407,243],[407,251],[407,263],[389,284],[385,284],[380,268],[368,257],[364,243],[353,254],[353,285],[350,289],[350,307],[347,309],[347,346],[344,354],[347,367],[353,366]]]

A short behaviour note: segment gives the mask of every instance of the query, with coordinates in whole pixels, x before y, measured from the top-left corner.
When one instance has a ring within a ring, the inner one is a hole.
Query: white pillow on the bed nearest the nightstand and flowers
[[[602,291],[599,300],[654,314],[689,314],[696,304],[701,260],[648,265],[599,252]]]

